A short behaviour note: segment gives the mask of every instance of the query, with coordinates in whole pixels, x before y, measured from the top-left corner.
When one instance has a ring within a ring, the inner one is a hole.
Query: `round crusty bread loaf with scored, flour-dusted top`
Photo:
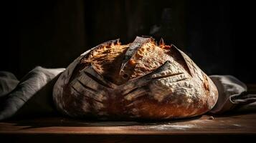
[[[208,112],[218,92],[176,46],[137,36],[85,51],[60,75],[53,97],[70,117],[177,119]]]

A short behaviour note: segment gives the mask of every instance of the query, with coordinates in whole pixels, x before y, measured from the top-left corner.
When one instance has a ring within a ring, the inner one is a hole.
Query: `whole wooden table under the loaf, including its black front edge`
[[[256,137],[256,113],[166,122],[90,122],[44,117],[0,122],[11,142],[241,142]]]

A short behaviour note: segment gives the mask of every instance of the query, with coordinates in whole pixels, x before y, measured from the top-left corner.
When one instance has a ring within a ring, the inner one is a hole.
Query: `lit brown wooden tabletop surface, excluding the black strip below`
[[[0,122],[0,134],[256,134],[256,113],[165,122],[96,122],[44,117]]]

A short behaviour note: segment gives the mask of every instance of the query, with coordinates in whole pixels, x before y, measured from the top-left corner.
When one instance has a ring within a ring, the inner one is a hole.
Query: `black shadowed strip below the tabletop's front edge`
[[[254,139],[243,135],[88,135],[88,134],[3,134],[1,139],[10,142],[245,142]]]

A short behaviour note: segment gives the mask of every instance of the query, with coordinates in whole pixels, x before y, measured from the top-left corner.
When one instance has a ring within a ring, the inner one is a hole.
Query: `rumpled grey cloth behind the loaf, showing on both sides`
[[[0,71],[0,120],[15,116],[57,114],[52,101],[52,89],[65,69],[45,69],[41,66],[29,71],[21,81],[14,74]],[[255,112],[256,94],[248,94],[246,85],[230,75],[210,76],[217,86],[219,98],[209,112]]]

